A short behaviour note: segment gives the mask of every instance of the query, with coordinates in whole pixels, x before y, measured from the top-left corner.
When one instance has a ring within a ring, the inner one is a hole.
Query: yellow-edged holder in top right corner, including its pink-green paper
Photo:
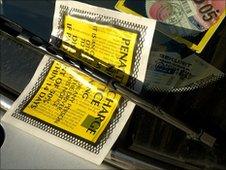
[[[221,0],[119,0],[115,8],[164,23],[158,31],[197,53],[205,48],[226,14],[225,1]]]

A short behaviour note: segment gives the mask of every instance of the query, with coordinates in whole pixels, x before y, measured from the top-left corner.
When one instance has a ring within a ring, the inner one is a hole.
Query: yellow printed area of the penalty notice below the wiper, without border
[[[23,112],[95,143],[120,95],[91,77],[54,61],[40,89]]]

